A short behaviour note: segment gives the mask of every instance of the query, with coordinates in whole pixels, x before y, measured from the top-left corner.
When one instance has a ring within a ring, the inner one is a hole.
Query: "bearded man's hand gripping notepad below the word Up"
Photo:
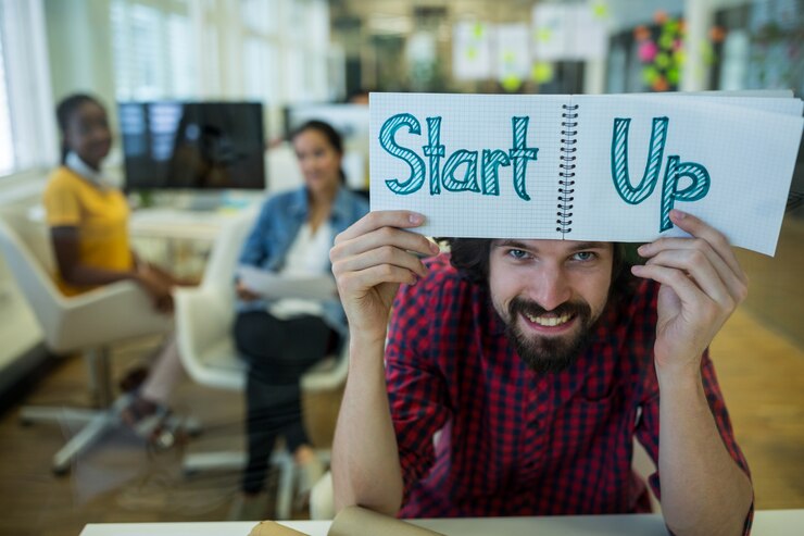
[[[673,210],[690,238],[659,238],[639,248],[638,277],[662,284],[654,347],[656,372],[699,374],[701,356],[748,295],[749,278],[726,237],[702,220]]]

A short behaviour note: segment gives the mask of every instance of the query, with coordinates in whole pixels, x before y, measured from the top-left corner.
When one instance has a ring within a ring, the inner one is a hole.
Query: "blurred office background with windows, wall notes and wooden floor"
[[[218,192],[211,212],[219,215],[299,184],[285,137],[302,117],[323,116],[347,130],[350,186],[365,189],[367,107],[356,102],[367,90],[792,89],[801,98],[803,43],[802,0],[0,0],[0,215],[37,221],[59,158],[53,109],[75,91],[106,104],[116,136],[109,174],[145,208],[185,207],[202,192],[126,185],[117,102],[262,104],[263,185]],[[801,165],[792,189],[776,258],[740,252],[751,296],[713,351],[758,508],[804,508]],[[192,217],[203,225],[202,211]],[[201,277],[210,227],[172,237],[145,225],[135,242],[146,257]],[[116,372],[156,342],[116,348]],[[85,377],[77,357],[47,352],[0,261],[0,533],[223,519],[237,474],[186,475],[180,459],[193,449],[241,446],[241,395],[188,379],[177,409],[201,417],[201,437],[165,449],[110,437],[54,476],[50,456],[71,431],[21,427],[16,411],[23,402],[88,404]],[[331,440],[338,400],[335,392],[305,401],[322,447]]]

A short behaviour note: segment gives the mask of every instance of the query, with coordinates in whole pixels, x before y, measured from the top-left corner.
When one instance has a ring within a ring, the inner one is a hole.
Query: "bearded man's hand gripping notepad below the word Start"
[[[410,211],[370,212],[339,234],[329,252],[352,337],[385,340],[400,284],[415,284],[427,267],[414,253],[431,257],[438,245],[406,230],[424,223]]]

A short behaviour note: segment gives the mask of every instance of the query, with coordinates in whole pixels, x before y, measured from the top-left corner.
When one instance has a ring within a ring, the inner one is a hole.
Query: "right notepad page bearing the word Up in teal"
[[[581,134],[574,225],[567,238],[648,241],[659,235],[682,235],[676,228],[659,233],[667,159],[678,155],[681,162],[705,166],[709,188],[702,199],[677,201],[675,208],[704,217],[733,245],[774,253],[801,139],[801,116],[692,97],[574,99],[579,104]],[[617,117],[631,120],[627,163],[630,184],[637,186],[645,170],[652,120],[657,116],[668,117],[658,180],[652,195],[629,204],[612,177],[613,125]]]

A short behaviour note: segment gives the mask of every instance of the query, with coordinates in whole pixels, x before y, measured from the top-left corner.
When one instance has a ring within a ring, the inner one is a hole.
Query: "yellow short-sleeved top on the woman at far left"
[[[123,192],[99,187],[61,166],[45,189],[45,211],[51,227],[78,228],[78,262],[104,270],[128,271],[134,258],[128,242],[129,209]],[[93,287],[74,287],[55,275],[59,288],[74,296]]]

